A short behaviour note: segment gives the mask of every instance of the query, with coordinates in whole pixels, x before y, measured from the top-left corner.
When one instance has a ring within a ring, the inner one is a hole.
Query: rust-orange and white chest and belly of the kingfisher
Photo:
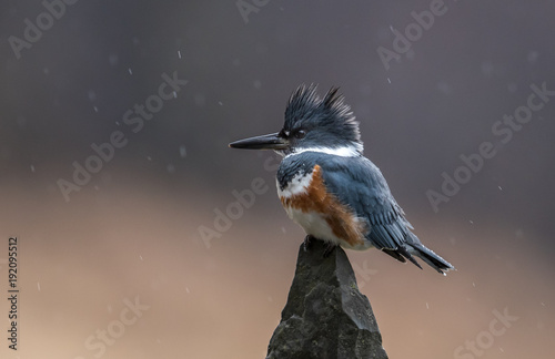
[[[316,165],[310,173],[299,172],[278,195],[289,217],[306,234],[334,244],[364,247],[364,225],[352,211],[327,192]]]

